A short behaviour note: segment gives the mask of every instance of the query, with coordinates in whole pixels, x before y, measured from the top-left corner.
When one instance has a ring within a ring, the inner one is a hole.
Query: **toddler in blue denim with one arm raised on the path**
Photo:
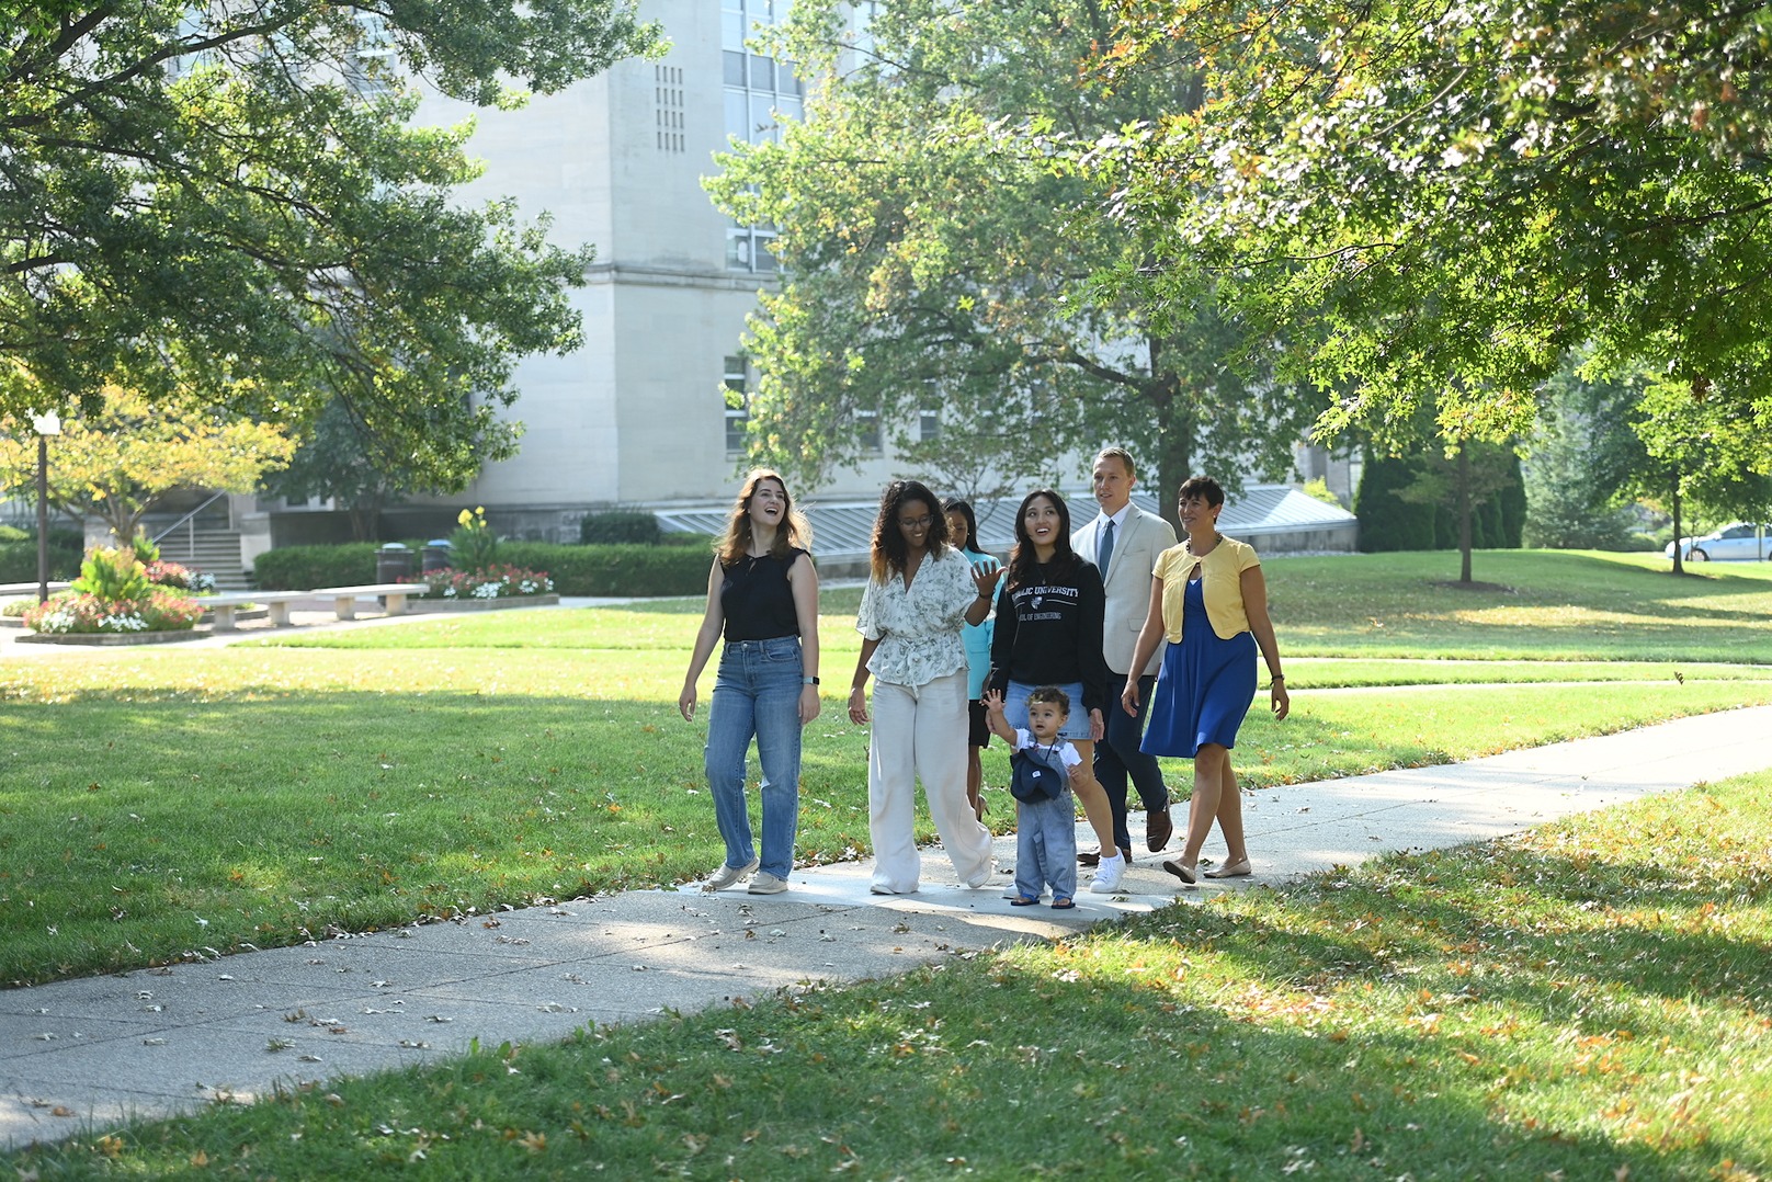
[[[1070,695],[1058,686],[1040,686],[1028,695],[1028,730],[1008,725],[1003,718],[1003,691],[983,695],[991,732],[1008,744],[1010,758],[1022,751],[1045,764],[1058,783],[1058,794],[1047,799],[1015,799],[1015,897],[1017,907],[1040,902],[1040,891],[1053,888],[1053,907],[1076,907],[1077,893],[1077,806],[1070,796],[1070,780],[1086,774],[1083,757],[1058,732],[1070,718]]]

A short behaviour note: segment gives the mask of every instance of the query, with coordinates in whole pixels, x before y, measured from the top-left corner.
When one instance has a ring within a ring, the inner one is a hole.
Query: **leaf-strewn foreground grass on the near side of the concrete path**
[[[1772,773],[1056,943],[0,1155],[23,1177],[1751,1182]]]

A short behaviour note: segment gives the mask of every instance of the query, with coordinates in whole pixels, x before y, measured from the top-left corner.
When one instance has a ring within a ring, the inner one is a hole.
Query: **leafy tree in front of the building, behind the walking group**
[[[1077,67],[1111,25],[1086,0],[907,0],[859,37],[845,19],[835,0],[796,5],[773,48],[813,80],[806,121],[711,183],[780,232],[781,287],[751,324],[753,454],[819,480],[879,424],[937,478],[982,480],[966,459],[985,454],[1014,482],[1125,441],[1164,505],[1196,470],[1233,487],[1288,471],[1311,408],[1210,280],[1155,308],[1104,294],[1102,275],[1157,259],[1056,151],[1185,108],[1191,80],[1093,85]]]

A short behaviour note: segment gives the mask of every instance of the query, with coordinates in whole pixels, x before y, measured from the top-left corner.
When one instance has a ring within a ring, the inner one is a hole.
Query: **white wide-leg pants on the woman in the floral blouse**
[[[918,888],[918,780],[960,883],[985,886],[991,881],[991,831],[966,801],[966,670],[923,686],[874,682],[868,833],[875,891],[909,895]]]

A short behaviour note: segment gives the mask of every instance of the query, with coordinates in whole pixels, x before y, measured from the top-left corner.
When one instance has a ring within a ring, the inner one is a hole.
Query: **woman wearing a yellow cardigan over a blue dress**
[[[1230,750],[1237,746],[1255,698],[1255,654],[1267,661],[1274,718],[1292,709],[1279,672],[1279,643],[1267,618],[1267,581],[1247,544],[1217,532],[1224,489],[1210,477],[1182,484],[1177,512],[1187,540],[1157,556],[1150,611],[1129,668],[1141,670],[1157,645],[1170,642],[1150,698],[1150,728],[1141,748],[1150,755],[1194,760],[1194,794],[1187,803],[1187,845],[1162,868],[1187,886],[1198,881],[1200,847],[1214,819],[1224,833],[1226,856],[1207,877],[1251,874],[1242,840],[1242,797]],[[1120,704],[1138,714],[1138,679],[1127,677]]]

